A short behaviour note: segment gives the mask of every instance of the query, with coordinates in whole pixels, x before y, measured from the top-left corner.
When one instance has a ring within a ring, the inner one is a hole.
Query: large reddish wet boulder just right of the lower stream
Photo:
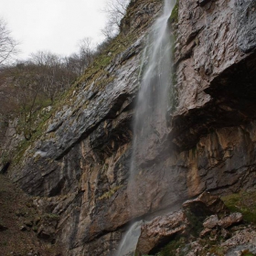
[[[154,253],[166,240],[184,233],[186,228],[187,219],[182,211],[157,217],[142,226],[136,251],[142,254]]]

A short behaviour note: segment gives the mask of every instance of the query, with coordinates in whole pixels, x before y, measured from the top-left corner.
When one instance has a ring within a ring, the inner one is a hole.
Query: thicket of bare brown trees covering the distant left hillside
[[[0,69],[0,123],[18,117],[20,132],[29,140],[37,129],[37,111],[51,104],[76,77],[64,59],[48,52]]]

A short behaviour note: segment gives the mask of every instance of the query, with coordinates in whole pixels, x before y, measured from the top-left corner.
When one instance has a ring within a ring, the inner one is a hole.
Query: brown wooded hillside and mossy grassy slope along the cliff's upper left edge
[[[3,108],[3,112],[0,113],[2,120],[5,120],[1,125],[6,125],[1,130],[2,138],[5,137],[7,121],[16,117],[18,120],[16,132],[25,138],[18,144],[17,152],[2,151],[2,162],[16,164],[27,146],[43,133],[48,118],[59,112],[64,105],[73,104],[75,91],[81,88],[89,89],[91,83],[93,83],[91,91],[102,91],[114,80],[111,67],[121,65],[118,63],[120,58],[125,62],[123,52],[142,36],[154,18],[142,19],[138,6],[150,7],[152,2],[158,2],[160,9],[160,0],[144,0],[143,3],[132,1],[126,15],[119,20],[119,34],[106,37],[95,50],[91,48],[90,39],[85,39],[80,45],[78,60],[72,57],[63,59],[47,52],[38,52],[33,59],[1,71],[0,75],[3,78],[1,88],[5,88],[9,94],[7,97],[5,94],[5,100],[11,102],[9,106],[13,106],[10,112],[4,111]],[[82,66],[78,68],[75,61]],[[83,73],[79,75],[81,69]],[[7,105],[5,101],[3,102],[4,106]],[[11,161],[13,158],[15,161]]]

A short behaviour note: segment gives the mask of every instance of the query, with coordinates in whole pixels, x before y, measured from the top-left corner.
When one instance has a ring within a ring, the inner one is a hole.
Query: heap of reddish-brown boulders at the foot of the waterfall
[[[185,202],[183,209],[144,223],[136,255],[156,255],[159,251],[169,255],[210,255],[209,251],[213,253],[218,247],[222,248],[221,255],[229,255],[239,246],[240,250],[249,250],[253,248],[249,228],[241,225],[239,230],[232,229],[241,220],[242,214],[229,214],[219,197],[203,193]]]

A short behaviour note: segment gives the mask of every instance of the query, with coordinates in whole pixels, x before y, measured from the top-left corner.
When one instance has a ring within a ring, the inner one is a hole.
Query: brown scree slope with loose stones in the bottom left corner
[[[33,199],[0,175],[0,255],[60,256],[53,245],[59,217],[38,212]]]

